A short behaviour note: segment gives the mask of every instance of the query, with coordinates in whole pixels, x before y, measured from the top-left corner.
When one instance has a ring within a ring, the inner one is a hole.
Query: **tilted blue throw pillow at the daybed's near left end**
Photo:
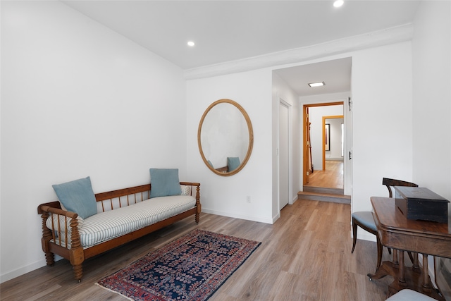
[[[91,178],[82,178],[68,183],[51,185],[59,201],[68,211],[77,213],[82,219],[97,214],[97,202],[92,191]]]

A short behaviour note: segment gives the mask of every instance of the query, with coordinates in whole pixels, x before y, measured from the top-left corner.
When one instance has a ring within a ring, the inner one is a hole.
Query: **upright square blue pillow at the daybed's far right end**
[[[150,197],[180,195],[178,168],[150,168]]]

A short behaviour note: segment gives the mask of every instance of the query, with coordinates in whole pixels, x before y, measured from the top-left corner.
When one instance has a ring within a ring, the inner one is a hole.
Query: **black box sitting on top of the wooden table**
[[[448,201],[428,188],[395,186],[396,206],[407,219],[448,222]]]

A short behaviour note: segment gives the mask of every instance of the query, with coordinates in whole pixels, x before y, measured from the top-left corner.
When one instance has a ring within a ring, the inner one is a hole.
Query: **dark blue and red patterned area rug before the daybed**
[[[130,300],[207,300],[261,242],[196,229],[97,285]]]

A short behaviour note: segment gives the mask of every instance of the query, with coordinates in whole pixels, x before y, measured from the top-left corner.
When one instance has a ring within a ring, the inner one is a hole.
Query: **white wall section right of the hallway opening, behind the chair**
[[[387,196],[382,178],[412,180],[411,43],[352,55],[352,211]]]

